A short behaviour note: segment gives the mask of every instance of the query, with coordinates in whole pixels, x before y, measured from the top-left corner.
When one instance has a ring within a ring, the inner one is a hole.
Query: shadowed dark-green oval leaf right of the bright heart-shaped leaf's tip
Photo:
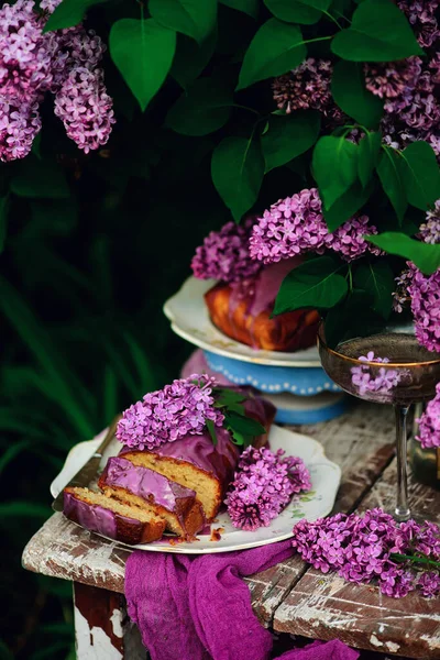
[[[170,108],[165,125],[183,135],[207,135],[217,131],[230,118],[232,89],[218,76],[199,78]]]

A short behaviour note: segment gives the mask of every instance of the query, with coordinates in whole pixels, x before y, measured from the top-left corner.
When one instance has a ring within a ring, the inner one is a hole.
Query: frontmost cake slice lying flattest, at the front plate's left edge
[[[165,520],[155,514],[88,488],[64,490],[64,515],[90,531],[133,546],[156,541],[165,530]]]

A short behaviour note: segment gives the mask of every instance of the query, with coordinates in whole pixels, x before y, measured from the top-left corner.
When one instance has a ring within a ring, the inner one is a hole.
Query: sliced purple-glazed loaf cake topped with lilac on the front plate
[[[219,386],[206,374],[147,393],[118,421],[123,447],[109,459],[100,492],[65,488],[64,513],[125,543],[157,540],[165,529],[191,540],[224,501],[235,442],[263,447],[275,413],[250,387]]]

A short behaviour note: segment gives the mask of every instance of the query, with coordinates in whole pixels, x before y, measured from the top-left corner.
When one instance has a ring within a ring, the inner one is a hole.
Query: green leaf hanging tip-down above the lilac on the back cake
[[[235,222],[254,205],[264,176],[264,158],[255,138],[227,138],[211,161],[212,182]]]

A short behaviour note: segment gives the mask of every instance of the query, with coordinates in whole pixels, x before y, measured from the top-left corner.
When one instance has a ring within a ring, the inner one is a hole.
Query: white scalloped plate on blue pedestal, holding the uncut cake
[[[294,353],[255,351],[217,330],[211,323],[204,299],[204,294],[215,284],[213,279],[189,277],[180,290],[165,302],[164,312],[176,334],[200,349],[232,360],[272,366],[321,367],[316,346]]]

